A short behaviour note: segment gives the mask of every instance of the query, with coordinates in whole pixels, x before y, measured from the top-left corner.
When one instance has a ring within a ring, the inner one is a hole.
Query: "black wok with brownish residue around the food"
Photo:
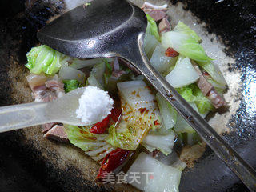
[[[38,29],[72,8],[70,2],[0,2],[1,106],[32,102],[26,52],[38,44]],[[141,6],[143,1],[133,2]],[[210,124],[255,168],[254,0],[149,2],[169,3],[172,24],[181,20],[191,26],[202,37],[207,54],[216,58],[229,86],[225,98],[230,109],[213,114]],[[39,126],[0,134],[0,147],[0,191],[136,191],[132,186],[96,184],[97,163],[74,146],[42,138]],[[181,155],[189,167],[182,172],[180,191],[247,191],[207,146],[193,146]]]

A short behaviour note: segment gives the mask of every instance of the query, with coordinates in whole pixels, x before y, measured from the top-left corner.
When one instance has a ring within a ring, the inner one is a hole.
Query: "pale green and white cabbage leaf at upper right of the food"
[[[202,46],[198,43],[198,36],[196,37],[195,33],[190,30],[187,32],[187,28],[188,26],[184,28],[180,25],[178,30],[162,34],[162,46],[165,49],[172,47],[178,53],[195,61],[210,62],[212,59],[206,55]]]

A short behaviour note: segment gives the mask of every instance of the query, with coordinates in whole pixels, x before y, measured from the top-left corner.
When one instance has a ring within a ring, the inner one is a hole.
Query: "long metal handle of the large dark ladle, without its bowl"
[[[156,90],[181,114],[182,117],[197,131],[214,153],[242,180],[251,190],[256,191],[256,172],[247,164],[232,147],[216,133],[216,131],[202,118],[184,98],[162,78],[161,74],[150,65],[143,48],[143,35],[138,37],[138,50],[126,54],[126,59],[131,62]],[[132,55],[132,56],[130,56]]]

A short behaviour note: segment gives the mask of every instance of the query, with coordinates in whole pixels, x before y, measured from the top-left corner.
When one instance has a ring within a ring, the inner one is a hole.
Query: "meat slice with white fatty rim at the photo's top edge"
[[[154,18],[154,21],[159,21],[162,18],[166,17],[166,10],[167,10],[167,4],[163,6],[155,6],[151,4],[150,2],[145,2],[142,5],[142,10],[151,16],[151,18]]]

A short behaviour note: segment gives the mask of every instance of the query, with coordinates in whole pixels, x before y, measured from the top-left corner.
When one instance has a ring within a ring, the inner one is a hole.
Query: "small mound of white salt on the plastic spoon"
[[[114,101],[106,91],[96,86],[86,86],[86,90],[79,99],[77,118],[86,125],[102,122],[113,108]]]

